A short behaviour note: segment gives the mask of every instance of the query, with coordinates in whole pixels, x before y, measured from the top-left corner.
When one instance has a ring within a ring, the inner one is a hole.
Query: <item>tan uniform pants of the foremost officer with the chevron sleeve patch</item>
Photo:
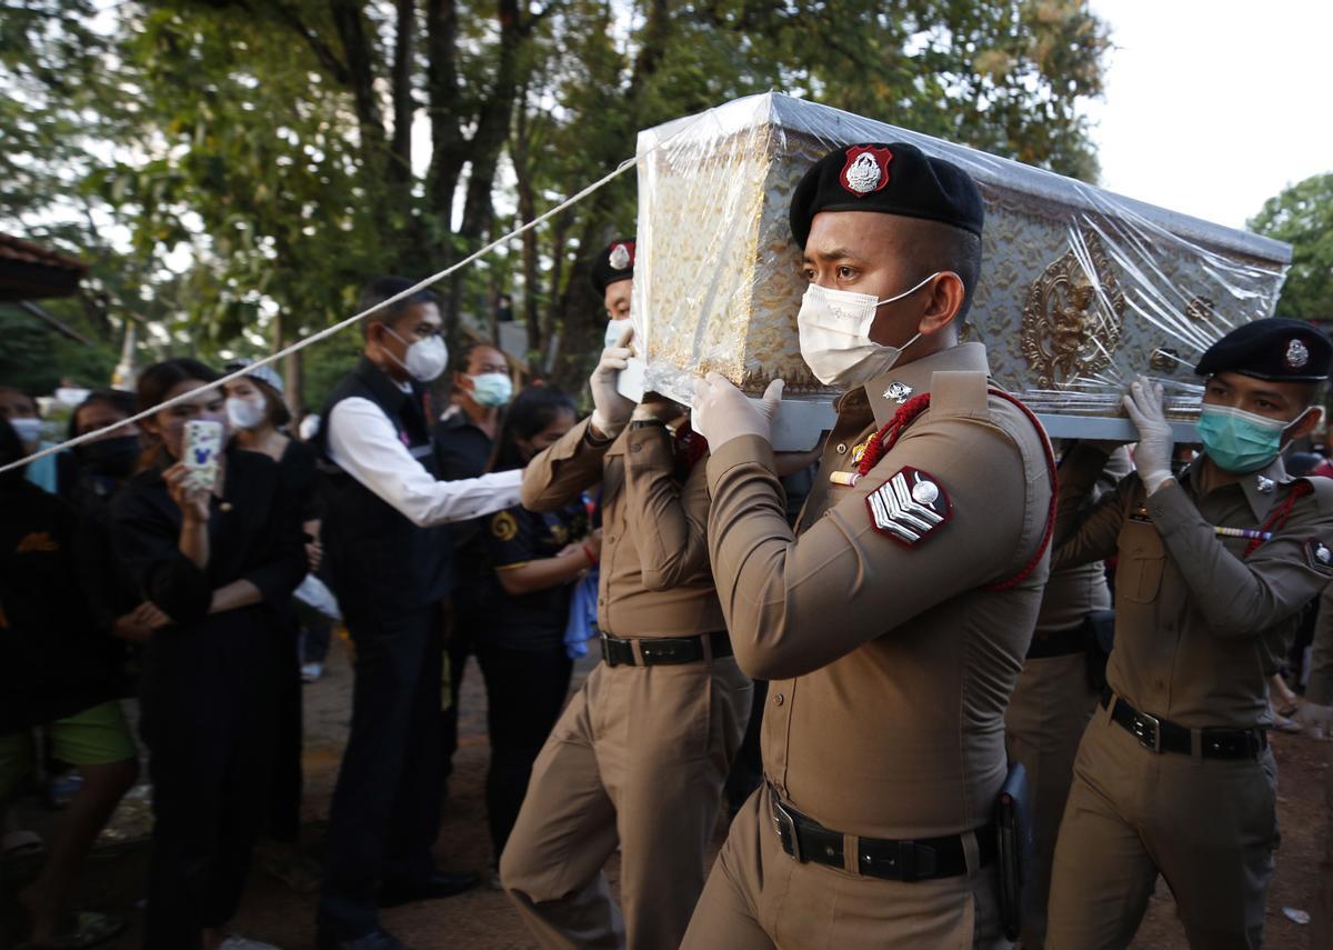
[[[760,786],[732,822],[681,950],[1009,946],[993,866],[902,883],[802,865],[782,850],[770,815]]]

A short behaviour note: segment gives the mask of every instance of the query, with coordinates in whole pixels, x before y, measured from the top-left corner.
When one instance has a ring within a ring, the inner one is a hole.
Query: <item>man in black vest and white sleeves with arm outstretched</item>
[[[363,310],[412,288],[380,278]],[[317,946],[405,946],[379,907],[457,894],[477,875],[436,869],[440,830],[441,603],[452,540],[443,526],[519,503],[521,472],[440,482],[425,384],[444,372],[436,296],[417,291],[363,324],[365,352],[315,436],[323,456],[324,559],[352,635],[352,731],[329,814]]]

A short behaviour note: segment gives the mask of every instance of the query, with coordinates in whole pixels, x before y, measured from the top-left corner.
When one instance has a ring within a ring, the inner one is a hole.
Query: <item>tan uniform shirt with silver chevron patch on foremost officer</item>
[[[926,391],[930,407],[860,483],[830,484],[830,472],[854,471],[854,447],[893,418],[897,398]],[[952,506],[910,546],[877,531],[868,503],[905,466]],[[1049,555],[1017,586],[986,587],[1033,560],[1050,504],[1044,439],[988,395],[985,348],[916,360],[840,400],[800,538],[766,442],[728,442],[708,476],[713,572],[737,660],[774,680],[762,753],[778,794],[857,835],[985,825]]]

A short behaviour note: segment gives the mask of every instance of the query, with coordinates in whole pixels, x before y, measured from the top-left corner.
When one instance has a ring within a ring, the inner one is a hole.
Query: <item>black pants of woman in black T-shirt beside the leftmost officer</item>
[[[487,680],[487,730],[491,770],[487,773],[487,819],[499,865],[523,797],[532,763],[555,727],[569,694],[573,660],[564,643],[543,650],[508,650],[477,644]]]

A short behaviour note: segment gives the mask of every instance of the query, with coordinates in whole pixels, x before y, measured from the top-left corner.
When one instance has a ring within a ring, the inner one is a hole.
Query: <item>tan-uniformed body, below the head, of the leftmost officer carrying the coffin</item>
[[[523,482],[535,511],[599,482],[603,506],[604,662],[541,750],[500,859],[505,890],[544,947],[680,945],[753,691],[708,567],[706,447],[669,431],[676,404],[635,407],[616,391],[629,355],[624,346],[603,354],[595,412],[533,459]],[[620,907],[601,873],[617,846]]]

